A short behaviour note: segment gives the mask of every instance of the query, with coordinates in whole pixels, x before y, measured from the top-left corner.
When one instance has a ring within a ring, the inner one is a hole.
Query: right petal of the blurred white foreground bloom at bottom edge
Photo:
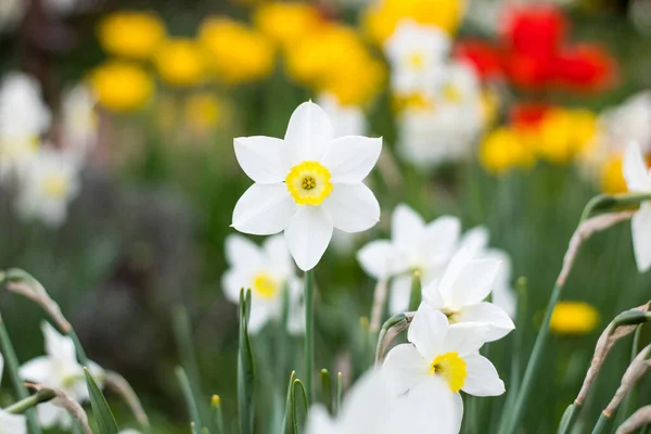
[[[414,387],[397,400],[399,423],[396,429],[404,433],[457,434],[463,420],[461,395],[452,393],[446,381],[437,375]]]

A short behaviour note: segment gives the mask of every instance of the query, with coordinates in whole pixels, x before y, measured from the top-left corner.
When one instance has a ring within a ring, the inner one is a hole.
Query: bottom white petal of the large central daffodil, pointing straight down
[[[328,248],[332,230],[332,220],[321,207],[298,207],[285,229],[288,247],[298,268],[315,268]]]

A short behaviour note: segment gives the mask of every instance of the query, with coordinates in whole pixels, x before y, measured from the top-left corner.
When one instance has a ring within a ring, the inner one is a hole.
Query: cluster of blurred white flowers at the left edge
[[[38,82],[10,74],[0,88],[0,183],[15,191],[15,209],[24,219],[58,227],[79,191],[79,170],[97,138],[94,100],[76,87],[63,98],[61,122],[50,133],[51,113]]]

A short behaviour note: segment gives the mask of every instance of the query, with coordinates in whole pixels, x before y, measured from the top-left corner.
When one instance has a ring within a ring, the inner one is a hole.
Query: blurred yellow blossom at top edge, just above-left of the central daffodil
[[[254,23],[276,43],[288,47],[318,31],[323,20],[311,4],[271,2],[257,8]]]

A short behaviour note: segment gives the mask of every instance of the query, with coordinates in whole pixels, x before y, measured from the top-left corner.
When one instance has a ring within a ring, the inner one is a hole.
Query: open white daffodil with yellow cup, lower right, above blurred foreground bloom
[[[409,396],[426,388],[436,396],[432,408],[450,401],[455,414],[463,414],[460,391],[474,396],[505,393],[497,370],[478,353],[485,341],[476,328],[450,326],[445,315],[422,303],[407,339],[408,344],[391,349],[383,365],[394,393]]]

